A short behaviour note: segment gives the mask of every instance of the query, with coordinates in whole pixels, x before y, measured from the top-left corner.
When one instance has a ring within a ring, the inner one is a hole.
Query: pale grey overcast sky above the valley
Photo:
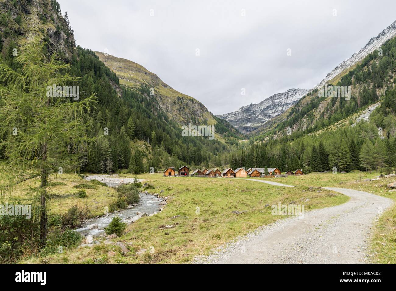
[[[58,2],[78,45],[141,64],[214,114],[314,87],[396,20],[395,0]]]

